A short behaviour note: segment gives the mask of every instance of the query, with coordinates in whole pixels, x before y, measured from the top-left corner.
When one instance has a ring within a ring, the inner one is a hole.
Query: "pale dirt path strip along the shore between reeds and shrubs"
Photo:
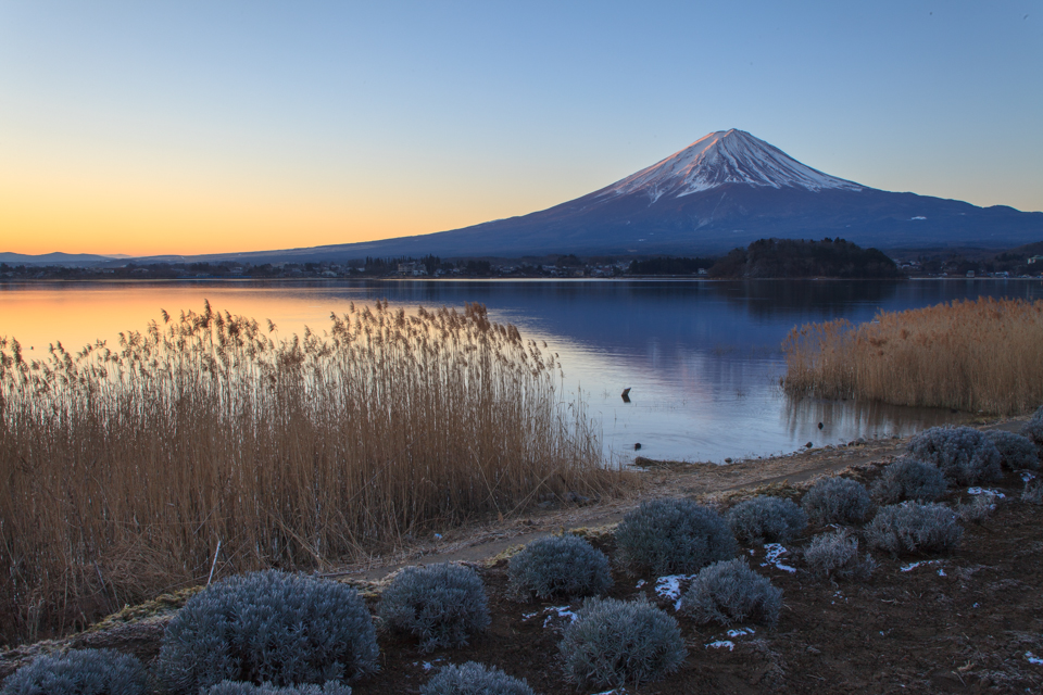
[[[965,425],[982,430],[1017,431],[1029,416],[984,417],[967,414]],[[711,506],[786,489],[808,486],[821,476],[882,467],[905,452],[910,437],[888,437],[800,450],[728,465],[644,459],[633,490],[607,500],[563,500],[557,508],[536,508],[502,520],[465,525],[414,543],[367,563],[331,568],[316,576],[336,579],[359,589],[370,601],[394,573],[412,565],[461,561],[491,567],[539,538],[577,532],[589,538],[611,531],[641,502],[661,497],[694,498]],[[68,648],[109,647],[133,653],[158,650],[166,622],[201,586],[164,594],[108,616],[86,630],[0,650],[0,680],[37,656]]]

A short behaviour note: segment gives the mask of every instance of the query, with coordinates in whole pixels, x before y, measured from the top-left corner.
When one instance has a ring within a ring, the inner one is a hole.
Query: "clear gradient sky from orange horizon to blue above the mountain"
[[[1043,210],[1043,2],[793,5],[0,0],[0,251],[441,231],[728,128]]]

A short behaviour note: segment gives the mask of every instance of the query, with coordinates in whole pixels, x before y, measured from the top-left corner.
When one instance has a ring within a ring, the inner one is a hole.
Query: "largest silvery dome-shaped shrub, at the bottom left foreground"
[[[222,681],[275,686],[347,681],[377,670],[377,637],[354,589],[279,570],[231,577],[188,599],[156,664],[171,692]]]

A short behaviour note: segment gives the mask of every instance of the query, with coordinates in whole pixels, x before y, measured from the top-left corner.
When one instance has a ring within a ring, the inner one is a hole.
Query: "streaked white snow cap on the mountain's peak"
[[[616,198],[644,191],[652,203],[663,195],[680,198],[725,184],[809,191],[860,191],[862,186],[801,164],[782,150],[744,130],[718,130],[680,152],[598,191]]]

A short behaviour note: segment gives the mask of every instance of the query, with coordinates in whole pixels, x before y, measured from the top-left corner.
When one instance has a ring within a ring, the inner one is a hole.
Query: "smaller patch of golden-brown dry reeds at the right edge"
[[[1025,413],[1043,403],[1043,301],[954,301],[794,328],[786,391],[896,405]]]

